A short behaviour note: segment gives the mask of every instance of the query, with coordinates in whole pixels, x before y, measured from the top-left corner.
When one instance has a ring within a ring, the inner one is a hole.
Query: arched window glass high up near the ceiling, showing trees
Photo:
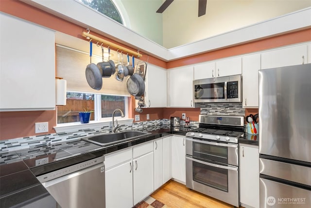
[[[80,1],[86,4],[87,6],[99,11],[105,16],[123,24],[121,15],[119,14],[119,11],[117,10],[112,0],[80,0]]]

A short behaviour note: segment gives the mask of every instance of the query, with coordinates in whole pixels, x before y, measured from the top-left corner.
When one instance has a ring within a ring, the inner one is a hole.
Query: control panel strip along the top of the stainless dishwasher
[[[87,169],[87,168],[92,167],[92,166],[97,165],[97,164],[103,164],[103,168],[104,168],[104,160],[105,160],[104,156],[101,156],[101,157],[98,157],[98,158],[95,158],[92,160],[87,160],[85,162],[78,163],[78,164],[75,164],[75,165],[60,169],[60,170],[55,170],[53,172],[49,172],[49,173],[46,173],[44,175],[39,175],[39,176],[37,176],[37,179],[39,180],[40,183],[44,183],[47,181],[51,181],[55,178],[62,177],[64,175],[68,175],[70,173],[74,173],[77,171]],[[101,168],[101,171],[103,171],[103,170],[104,169]]]

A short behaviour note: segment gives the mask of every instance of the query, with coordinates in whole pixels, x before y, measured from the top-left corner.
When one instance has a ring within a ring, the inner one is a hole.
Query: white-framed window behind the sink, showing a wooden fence
[[[93,111],[91,121],[110,121],[117,108],[127,117],[127,101],[127,96],[67,92],[66,106],[57,106],[57,124],[80,122],[79,112],[84,111]],[[120,112],[115,113],[115,117],[118,116]]]

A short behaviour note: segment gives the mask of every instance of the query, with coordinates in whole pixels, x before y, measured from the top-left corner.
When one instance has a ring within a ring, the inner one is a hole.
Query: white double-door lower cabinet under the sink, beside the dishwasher
[[[154,191],[153,141],[105,155],[106,208],[130,208]]]

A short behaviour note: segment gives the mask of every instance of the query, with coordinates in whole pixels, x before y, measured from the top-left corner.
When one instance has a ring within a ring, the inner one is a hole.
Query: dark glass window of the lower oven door
[[[192,162],[193,181],[228,192],[228,170]]]

